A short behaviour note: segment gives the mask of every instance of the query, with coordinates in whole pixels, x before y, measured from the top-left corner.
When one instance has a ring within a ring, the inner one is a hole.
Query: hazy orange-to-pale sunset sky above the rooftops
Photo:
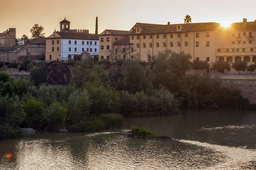
[[[256,20],[253,0],[0,0],[0,32],[16,28],[16,37],[31,37],[35,24],[44,27],[48,37],[59,31],[61,20],[70,21],[70,29],[89,29],[99,34],[105,29],[130,30],[135,23],[183,23],[189,14],[192,23]]]

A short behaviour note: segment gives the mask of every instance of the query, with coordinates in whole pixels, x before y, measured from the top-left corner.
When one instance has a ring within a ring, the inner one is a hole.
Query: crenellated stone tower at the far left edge
[[[0,47],[16,46],[16,28],[9,28],[0,33]]]

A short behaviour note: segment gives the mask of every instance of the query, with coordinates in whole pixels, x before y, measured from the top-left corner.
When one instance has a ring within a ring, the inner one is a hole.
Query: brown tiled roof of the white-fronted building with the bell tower
[[[76,32],[56,32],[62,38],[78,40],[99,40],[99,34],[84,34]]]

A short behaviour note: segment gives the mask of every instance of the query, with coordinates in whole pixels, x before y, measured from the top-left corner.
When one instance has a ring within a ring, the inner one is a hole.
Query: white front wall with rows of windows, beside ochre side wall
[[[71,44],[69,44],[69,41],[71,41]],[[76,44],[75,44],[76,41]],[[82,44],[82,41],[84,41],[84,45]],[[89,45],[87,45],[87,42]],[[92,45],[90,43],[92,42]],[[95,45],[96,42],[96,45]],[[69,48],[71,48],[71,51],[69,51]],[[76,51],[75,51],[76,48]],[[82,48],[84,48],[84,51],[88,52],[90,55],[99,55],[99,40],[74,40],[74,39],[62,39],[61,42],[61,59],[66,60],[69,55],[73,56],[75,54],[81,54]],[[87,51],[88,48],[88,51]],[[90,51],[90,48],[92,51]],[[96,51],[95,51],[96,49]]]

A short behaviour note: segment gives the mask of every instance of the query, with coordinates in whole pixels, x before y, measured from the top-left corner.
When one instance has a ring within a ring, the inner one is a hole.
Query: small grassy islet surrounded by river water
[[[139,128],[132,126],[131,133],[135,136],[141,136],[143,138],[157,138],[157,139],[172,139],[170,136],[156,135],[154,132],[148,131],[146,128]]]

